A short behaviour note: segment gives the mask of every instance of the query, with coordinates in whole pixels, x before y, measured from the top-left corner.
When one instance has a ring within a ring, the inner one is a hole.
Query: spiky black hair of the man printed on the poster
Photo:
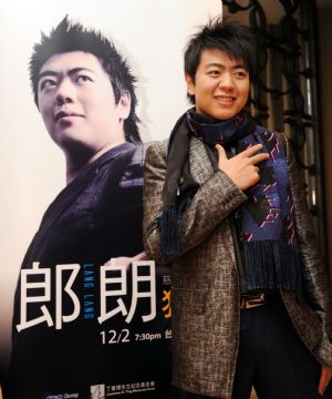
[[[132,143],[142,143],[137,126],[139,119],[136,115],[136,78],[132,74],[127,61],[117,52],[113,42],[101,32],[87,30],[81,23],[73,23],[68,16],[51,31],[50,35],[42,32],[40,43],[33,47],[29,70],[35,104],[38,105],[38,81],[42,65],[53,54],[70,51],[89,52],[101,60],[110,76],[116,103],[125,92],[131,95],[131,113],[124,121],[125,139]]]

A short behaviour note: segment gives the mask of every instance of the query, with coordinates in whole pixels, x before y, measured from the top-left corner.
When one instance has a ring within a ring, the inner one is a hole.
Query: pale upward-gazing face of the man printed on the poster
[[[38,105],[51,137],[65,153],[79,150],[94,155],[125,141],[129,94],[115,104],[110,76],[91,53],[50,57],[40,71]]]

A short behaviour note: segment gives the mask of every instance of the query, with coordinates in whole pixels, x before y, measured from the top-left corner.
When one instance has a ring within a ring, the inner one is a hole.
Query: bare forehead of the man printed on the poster
[[[45,71],[61,72],[71,69],[104,70],[96,55],[85,51],[68,51],[52,54],[41,66],[40,74]]]

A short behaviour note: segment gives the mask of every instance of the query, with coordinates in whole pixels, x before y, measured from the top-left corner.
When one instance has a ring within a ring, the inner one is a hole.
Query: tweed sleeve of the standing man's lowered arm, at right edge
[[[312,216],[308,208],[299,167],[292,153],[291,144],[288,140],[286,141],[290,186],[295,212],[295,233],[301,254],[303,295],[311,309],[319,315],[323,325],[323,331],[326,335],[325,338],[328,338],[326,345],[329,346],[329,338],[331,339],[332,337],[332,307],[329,276],[319,254],[319,245],[312,225]],[[331,357],[331,345],[329,350]]]

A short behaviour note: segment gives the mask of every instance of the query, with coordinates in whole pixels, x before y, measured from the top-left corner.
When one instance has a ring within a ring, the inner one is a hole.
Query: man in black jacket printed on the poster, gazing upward
[[[152,269],[142,295],[129,267],[144,257],[135,78],[112,42],[68,18],[34,45],[30,76],[68,184],[23,259],[4,398],[159,398],[167,346],[137,335],[159,336],[166,321]]]

